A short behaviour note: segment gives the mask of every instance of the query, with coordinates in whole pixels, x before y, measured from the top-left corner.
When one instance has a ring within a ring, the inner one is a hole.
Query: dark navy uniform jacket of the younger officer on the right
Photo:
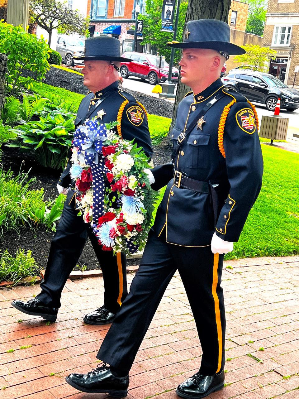
[[[222,97],[202,115],[205,105],[219,94]],[[224,110],[227,105],[229,112]],[[187,247],[210,245],[215,231],[223,240],[238,241],[262,185],[263,159],[256,123],[247,99],[225,89],[220,79],[179,103],[170,134],[175,146],[181,132],[187,136],[173,164],[152,170],[153,188],[168,183],[153,226],[157,235],[165,229],[168,243]],[[224,126],[223,144],[219,126]],[[173,184],[173,166],[184,176],[218,184],[216,226],[211,195],[177,188]]]

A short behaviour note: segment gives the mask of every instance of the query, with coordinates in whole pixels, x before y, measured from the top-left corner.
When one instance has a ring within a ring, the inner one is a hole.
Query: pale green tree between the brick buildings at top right
[[[263,36],[268,0],[240,0],[249,3],[246,32]]]

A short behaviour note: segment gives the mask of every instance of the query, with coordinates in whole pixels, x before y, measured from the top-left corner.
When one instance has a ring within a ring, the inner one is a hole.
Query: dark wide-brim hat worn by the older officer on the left
[[[85,39],[84,56],[73,58],[84,61],[132,61],[130,58],[120,56],[120,41],[111,36],[94,36]]]

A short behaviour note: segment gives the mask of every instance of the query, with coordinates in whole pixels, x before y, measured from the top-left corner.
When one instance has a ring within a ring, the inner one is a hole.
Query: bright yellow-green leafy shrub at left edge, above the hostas
[[[48,52],[49,45],[44,40],[28,34],[22,26],[13,26],[1,20],[0,53],[8,56],[6,93],[32,89],[34,80],[41,81],[50,69]]]

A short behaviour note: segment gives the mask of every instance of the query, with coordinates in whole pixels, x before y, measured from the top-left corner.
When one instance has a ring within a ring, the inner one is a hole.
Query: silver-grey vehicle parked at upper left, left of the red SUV
[[[56,51],[61,55],[62,61],[68,67],[73,67],[75,64],[83,64],[83,61],[73,59],[73,56],[81,57],[84,55],[84,41],[80,38],[58,35]]]

